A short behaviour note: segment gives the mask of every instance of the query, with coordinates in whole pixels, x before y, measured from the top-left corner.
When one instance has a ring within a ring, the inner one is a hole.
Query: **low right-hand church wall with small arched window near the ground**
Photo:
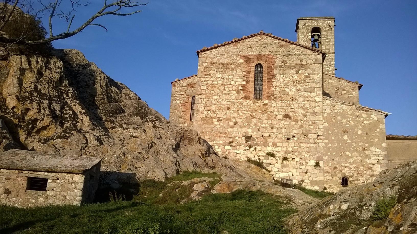
[[[373,181],[387,169],[385,115],[382,112],[324,97],[324,184],[329,191]]]

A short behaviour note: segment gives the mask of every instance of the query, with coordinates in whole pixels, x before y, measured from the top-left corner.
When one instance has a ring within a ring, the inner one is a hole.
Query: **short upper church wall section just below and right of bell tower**
[[[323,74],[323,96],[359,104],[359,83]]]

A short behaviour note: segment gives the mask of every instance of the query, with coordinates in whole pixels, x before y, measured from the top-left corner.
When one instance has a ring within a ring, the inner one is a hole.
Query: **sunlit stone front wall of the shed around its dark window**
[[[48,179],[47,191],[26,190],[28,176],[36,177],[35,175],[53,176],[58,179]],[[79,205],[82,199],[83,183],[83,174],[0,169],[0,203],[19,207],[48,204]]]

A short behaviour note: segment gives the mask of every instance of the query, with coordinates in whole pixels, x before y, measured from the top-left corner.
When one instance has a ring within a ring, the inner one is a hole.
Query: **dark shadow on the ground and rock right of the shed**
[[[136,173],[102,171],[95,192],[95,202],[114,200],[131,201],[139,193]]]

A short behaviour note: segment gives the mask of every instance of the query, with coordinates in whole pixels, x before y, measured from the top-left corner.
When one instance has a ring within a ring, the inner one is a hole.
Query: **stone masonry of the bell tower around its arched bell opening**
[[[319,27],[322,30],[322,47],[326,53],[323,62],[323,71],[329,75],[335,75],[334,69],[334,18],[324,19],[299,19],[297,28],[297,43],[311,46],[311,29]]]

